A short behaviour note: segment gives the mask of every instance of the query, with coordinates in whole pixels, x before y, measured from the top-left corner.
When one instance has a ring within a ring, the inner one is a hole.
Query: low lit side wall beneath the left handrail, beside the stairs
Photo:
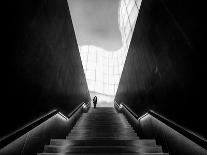
[[[1,148],[0,154],[36,155],[37,153],[42,153],[44,146],[49,145],[51,139],[66,138],[81,117],[83,111],[84,109],[82,107],[79,108],[69,119],[57,113],[10,144]]]

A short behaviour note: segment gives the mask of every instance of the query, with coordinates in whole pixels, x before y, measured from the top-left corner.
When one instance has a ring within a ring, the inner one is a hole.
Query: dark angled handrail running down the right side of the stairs
[[[118,103],[116,103],[118,104]],[[129,107],[127,107],[125,104],[121,103],[126,109],[127,111],[129,111],[136,119],[140,119],[143,118],[138,117]],[[190,132],[186,129],[184,129],[182,126],[173,123],[172,121],[168,120],[167,118],[165,118],[164,116],[161,116],[160,114],[156,113],[153,110],[148,110],[147,114],[155,117],[156,119],[158,119],[159,121],[163,122],[164,124],[166,124],[167,126],[171,127],[172,129],[174,129],[175,131],[179,132],[180,134],[182,134],[183,136],[187,137],[188,139],[192,140],[193,142],[195,142],[196,144],[200,145],[201,147],[207,149],[207,141],[199,136],[197,136],[196,134],[194,134],[193,132]]]

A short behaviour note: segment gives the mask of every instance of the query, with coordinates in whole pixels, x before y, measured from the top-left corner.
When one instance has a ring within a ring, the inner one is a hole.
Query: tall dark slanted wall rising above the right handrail
[[[116,101],[138,115],[153,109],[206,138],[205,15],[199,5],[142,1]]]

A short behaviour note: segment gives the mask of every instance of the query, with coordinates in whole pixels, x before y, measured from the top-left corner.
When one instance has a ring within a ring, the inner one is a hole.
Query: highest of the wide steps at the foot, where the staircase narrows
[[[130,146],[130,145],[144,145],[156,146],[154,139],[140,139],[140,140],[66,140],[66,139],[51,139],[50,145],[71,145],[71,146]]]

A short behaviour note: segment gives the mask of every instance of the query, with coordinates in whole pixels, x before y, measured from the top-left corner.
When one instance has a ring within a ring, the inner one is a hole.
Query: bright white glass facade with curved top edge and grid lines
[[[111,52],[93,45],[79,47],[90,92],[110,96],[116,94],[140,5],[141,0],[120,2],[118,22],[122,47],[119,50]]]

